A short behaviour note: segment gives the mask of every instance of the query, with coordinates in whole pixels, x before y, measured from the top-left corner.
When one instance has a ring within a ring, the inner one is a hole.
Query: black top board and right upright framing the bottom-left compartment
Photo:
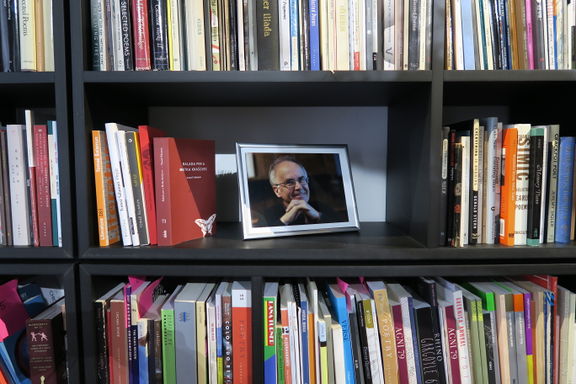
[[[68,382],[80,383],[82,372],[80,351],[82,350],[79,338],[80,312],[77,310],[76,272],[73,264],[46,263],[46,264],[2,264],[0,265],[0,283],[12,279],[19,281],[34,279],[49,280],[65,292],[65,322],[66,322],[66,364],[68,369]]]

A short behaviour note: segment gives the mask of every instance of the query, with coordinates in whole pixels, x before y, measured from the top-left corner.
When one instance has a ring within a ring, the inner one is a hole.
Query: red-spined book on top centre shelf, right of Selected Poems
[[[137,71],[149,71],[152,67],[148,33],[148,0],[133,0],[130,3],[134,35],[134,66]]]

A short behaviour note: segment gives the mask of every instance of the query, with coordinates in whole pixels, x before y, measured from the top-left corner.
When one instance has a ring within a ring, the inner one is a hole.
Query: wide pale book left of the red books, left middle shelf
[[[6,126],[12,238],[15,246],[32,245],[24,131],[24,125],[8,124]]]

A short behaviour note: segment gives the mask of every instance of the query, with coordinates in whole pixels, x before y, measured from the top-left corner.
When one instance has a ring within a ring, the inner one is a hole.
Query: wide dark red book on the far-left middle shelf
[[[34,126],[34,158],[36,160],[36,199],[38,207],[38,234],[41,247],[52,243],[52,201],[50,195],[50,161],[48,159],[48,132],[45,125]]]

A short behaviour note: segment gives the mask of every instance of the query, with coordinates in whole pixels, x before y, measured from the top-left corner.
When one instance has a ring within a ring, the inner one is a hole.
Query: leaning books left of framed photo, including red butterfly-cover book
[[[92,131],[100,246],[170,246],[216,233],[214,141],[147,125]]]

